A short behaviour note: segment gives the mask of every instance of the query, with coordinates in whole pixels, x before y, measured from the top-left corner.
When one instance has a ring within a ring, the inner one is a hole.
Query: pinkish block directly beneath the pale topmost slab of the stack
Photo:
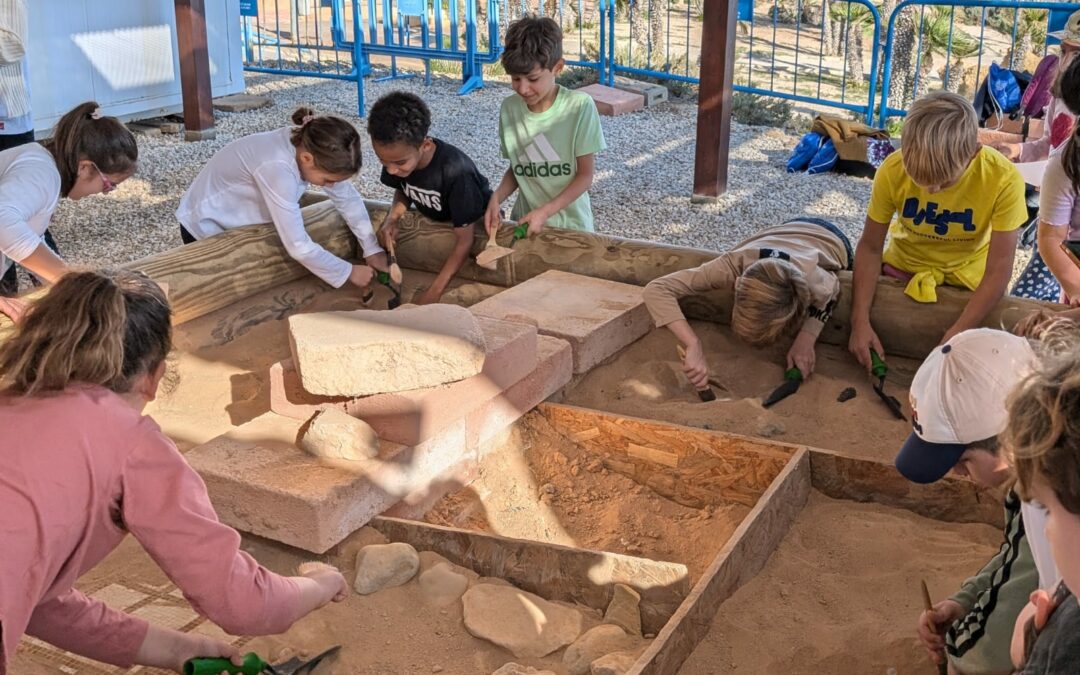
[[[316,396],[303,391],[292,361],[270,367],[270,409],[308,419],[327,407],[370,424],[379,436],[416,445],[467,416],[528,375],[537,364],[535,326],[478,316],[486,354],[480,375],[429,389],[361,399]]]

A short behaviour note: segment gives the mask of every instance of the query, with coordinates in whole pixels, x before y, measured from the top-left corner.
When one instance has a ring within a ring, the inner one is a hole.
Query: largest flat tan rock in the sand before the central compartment
[[[545,657],[581,635],[576,609],[549,603],[514,586],[478,583],[461,597],[465,630],[518,659]]]

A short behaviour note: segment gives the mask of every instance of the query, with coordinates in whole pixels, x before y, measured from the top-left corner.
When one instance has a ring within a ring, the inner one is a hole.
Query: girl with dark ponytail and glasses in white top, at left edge
[[[0,152],[0,274],[14,261],[48,283],[63,276],[67,265],[43,241],[60,198],[111,192],[137,162],[135,137],[92,100],[60,118],[49,140]],[[0,312],[16,321],[25,308],[0,297]]]

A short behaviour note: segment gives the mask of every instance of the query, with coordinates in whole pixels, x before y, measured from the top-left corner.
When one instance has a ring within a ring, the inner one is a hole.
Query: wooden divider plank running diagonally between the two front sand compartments
[[[801,449],[772,482],[627,675],[678,673],[683,662],[708,633],[717,608],[765,567],[809,495],[810,457]],[[717,672],[723,670],[717,665]]]

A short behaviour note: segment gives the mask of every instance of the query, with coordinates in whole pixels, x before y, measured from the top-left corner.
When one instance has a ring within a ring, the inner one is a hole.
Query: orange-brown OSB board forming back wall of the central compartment
[[[754,507],[798,446],[599,413],[539,407],[559,433],[616,471],[680,504]]]

